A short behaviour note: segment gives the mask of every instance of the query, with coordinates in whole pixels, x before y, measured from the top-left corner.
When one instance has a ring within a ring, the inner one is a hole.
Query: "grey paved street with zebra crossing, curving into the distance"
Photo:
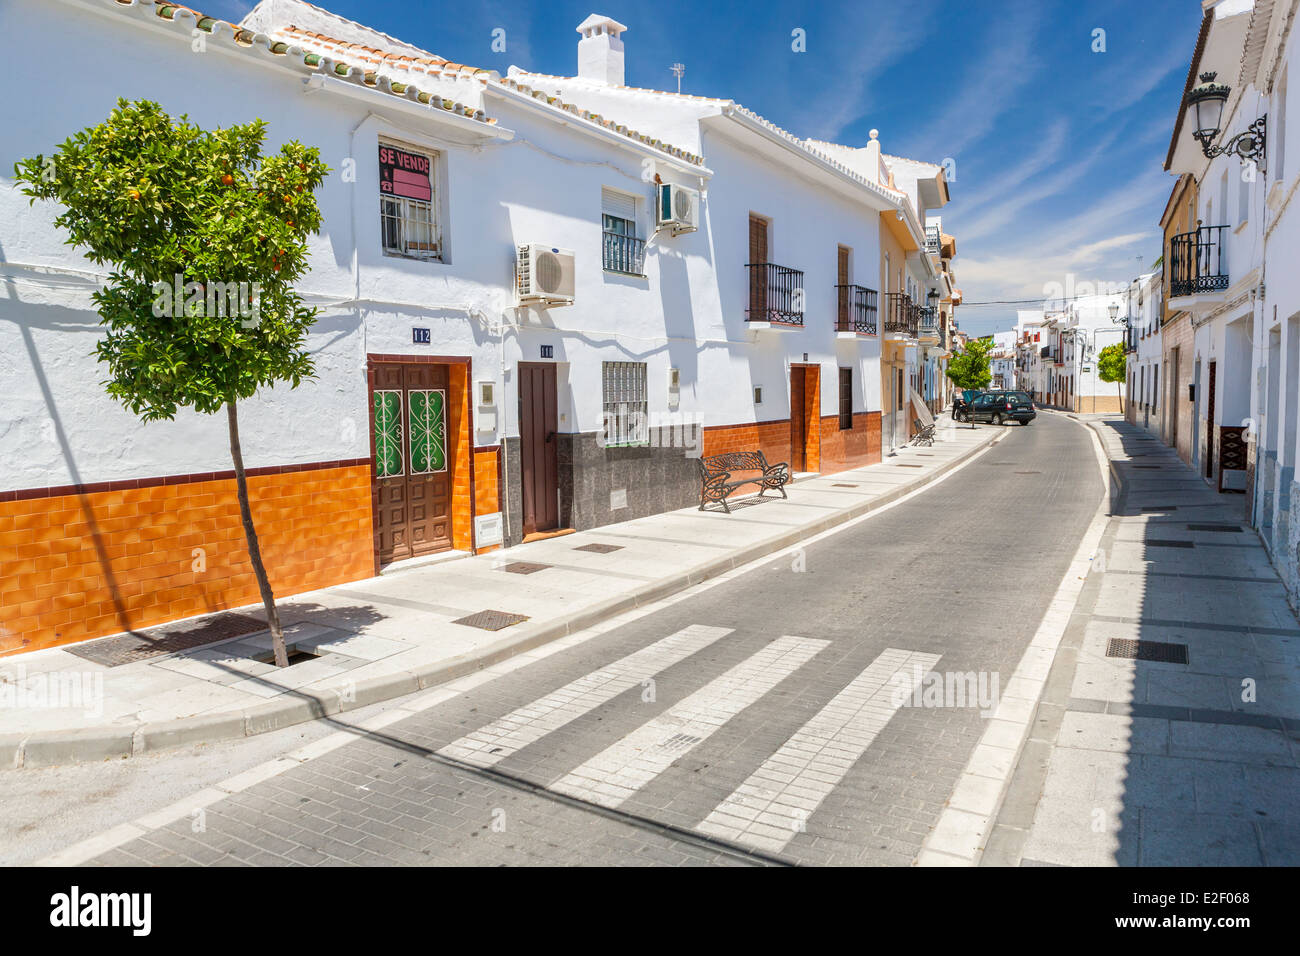
[[[1053,415],[1009,427],[948,480],[793,558],[98,862],[910,864],[983,719],[976,701],[900,705],[892,688],[927,671],[1005,683],[1100,501],[1089,442]]]

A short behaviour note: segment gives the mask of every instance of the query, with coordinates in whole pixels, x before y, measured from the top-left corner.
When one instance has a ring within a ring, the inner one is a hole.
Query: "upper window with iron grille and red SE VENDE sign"
[[[380,235],[386,255],[442,259],[436,157],[380,143]]]

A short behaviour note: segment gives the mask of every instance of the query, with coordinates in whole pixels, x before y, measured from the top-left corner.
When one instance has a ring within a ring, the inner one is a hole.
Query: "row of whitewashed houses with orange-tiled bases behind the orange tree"
[[[334,170],[300,284],[317,376],[240,403],[278,594],[689,505],[701,453],[880,460],[881,397],[915,388],[937,276],[913,195],[946,202],[941,170],[909,194],[875,139],[818,148],[732,101],[628,90],[623,33],[588,18],[580,77],[543,83],[299,0],[239,25],[0,5],[13,75],[47,78],[42,109],[0,105],[0,519],[22,515],[0,653],[257,597],[225,421],[144,425],[104,394],[104,273],[10,187],[14,161],[118,98],[204,127],[264,118],[268,151],[296,139]]]

